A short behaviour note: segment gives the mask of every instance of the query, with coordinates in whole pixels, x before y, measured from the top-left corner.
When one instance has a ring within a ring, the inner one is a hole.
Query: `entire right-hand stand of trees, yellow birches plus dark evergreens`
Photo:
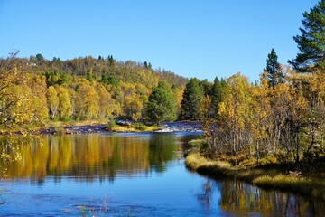
[[[320,165],[313,163],[325,156],[324,19],[321,0],[303,14],[302,35],[293,37],[300,52],[288,61],[292,67],[280,65],[272,49],[259,83],[240,73],[201,88],[198,80],[190,80],[181,117],[204,119],[202,155],[232,156],[236,164],[303,159]]]

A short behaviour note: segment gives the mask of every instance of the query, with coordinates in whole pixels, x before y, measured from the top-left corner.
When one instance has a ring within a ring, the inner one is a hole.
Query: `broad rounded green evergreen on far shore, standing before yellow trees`
[[[160,81],[154,87],[147,102],[148,118],[154,123],[161,121],[173,121],[176,119],[175,99],[172,97],[172,90],[164,81]]]

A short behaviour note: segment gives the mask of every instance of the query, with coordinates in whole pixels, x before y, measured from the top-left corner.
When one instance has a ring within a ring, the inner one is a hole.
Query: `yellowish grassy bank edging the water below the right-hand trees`
[[[240,168],[225,161],[211,161],[199,154],[190,154],[185,160],[186,166],[201,175],[215,177],[234,177],[258,187],[298,193],[308,197],[325,200],[325,181],[306,176],[286,175],[272,166],[259,168]]]

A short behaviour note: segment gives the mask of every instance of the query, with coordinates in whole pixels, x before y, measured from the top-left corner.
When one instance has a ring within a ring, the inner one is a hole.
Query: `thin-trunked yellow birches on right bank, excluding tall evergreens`
[[[207,114],[205,119],[204,155],[298,162],[302,156],[311,160],[324,154],[325,76],[290,68],[283,72],[283,80],[274,86],[265,76],[258,85],[240,73],[226,80],[217,118]],[[205,100],[209,111],[211,99]]]

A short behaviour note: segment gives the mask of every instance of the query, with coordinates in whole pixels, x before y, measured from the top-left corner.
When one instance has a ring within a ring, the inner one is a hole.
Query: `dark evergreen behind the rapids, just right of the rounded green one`
[[[186,84],[183,99],[181,100],[181,119],[200,119],[199,107],[202,98],[203,93],[200,89],[200,80],[196,78],[190,79]]]

